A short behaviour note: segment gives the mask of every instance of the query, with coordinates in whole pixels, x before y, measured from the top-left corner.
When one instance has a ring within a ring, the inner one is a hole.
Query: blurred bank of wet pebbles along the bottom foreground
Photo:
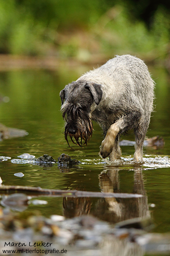
[[[40,212],[35,213],[36,216],[32,213],[30,216],[10,211],[1,216],[0,255],[3,255],[2,250],[6,241],[15,244],[12,247],[14,250],[35,249],[32,248],[34,242],[48,245],[51,243],[48,249],[57,248],[61,251],[64,248],[69,256],[111,256],[113,254],[139,256],[147,252],[168,255],[170,253],[170,234],[152,234],[141,232],[141,229],[135,227],[131,228],[129,224],[137,223],[137,219],[127,220],[127,225],[124,221],[116,227],[93,216],[81,216],[54,223],[51,219],[41,216]],[[87,224],[81,223],[82,221],[88,223],[88,220],[89,223],[92,221],[90,229],[87,228]],[[105,229],[102,225],[105,225]],[[96,226],[100,228],[96,229]],[[20,246],[19,243],[23,245]],[[41,245],[39,246],[37,250],[42,248]]]

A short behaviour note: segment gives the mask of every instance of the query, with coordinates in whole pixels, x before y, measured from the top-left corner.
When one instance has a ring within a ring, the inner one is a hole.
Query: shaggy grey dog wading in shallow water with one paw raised
[[[100,154],[112,161],[121,157],[121,134],[134,129],[134,161],[142,161],[154,85],[144,61],[131,55],[116,56],[69,83],[60,91],[66,141],[69,135],[73,143],[87,144],[94,120],[105,135]]]

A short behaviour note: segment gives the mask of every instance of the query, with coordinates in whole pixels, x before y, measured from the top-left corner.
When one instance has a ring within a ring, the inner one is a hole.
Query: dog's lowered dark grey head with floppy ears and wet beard
[[[93,132],[91,105],[93,103],[99,105],[102,99],[101,85],[85,81],[72,82],[60,91],[60,98],[63,119],[66,122],[65,139],[68,145],[70,146],[68,135],[74,144],[81,147],[83,144],[87,145]]]

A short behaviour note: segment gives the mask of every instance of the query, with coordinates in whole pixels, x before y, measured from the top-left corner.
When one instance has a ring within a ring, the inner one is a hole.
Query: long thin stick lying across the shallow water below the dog
[[[43,189],[40,187],[26,187],[26,186],[0,186],[0,193],[11,193],[11,192],[25,192],[36,195],[48,195],[48,196],[63,196],[63,197],[115,197],[115,198],[138,198],[142,197],[139,194],[128,194],[128,193],[102,193],[102,192],[90,192],[90,191],[79,191],[79,190],[60,190],[60,189]]]

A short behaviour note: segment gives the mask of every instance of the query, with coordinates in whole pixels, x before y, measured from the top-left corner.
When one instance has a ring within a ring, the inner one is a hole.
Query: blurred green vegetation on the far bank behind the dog
[[[0,53],[100,61],[115,54],[164,60],[167,0],[0,0]]]

